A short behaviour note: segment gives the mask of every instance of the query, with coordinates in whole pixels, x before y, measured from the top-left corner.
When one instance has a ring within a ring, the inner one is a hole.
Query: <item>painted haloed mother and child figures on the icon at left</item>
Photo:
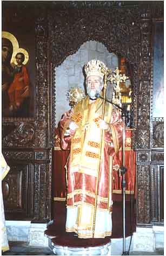
[[[2,32],[2,117],[28,117],[30,79],[26,63],[29,54],[19,48],[9,32]]]

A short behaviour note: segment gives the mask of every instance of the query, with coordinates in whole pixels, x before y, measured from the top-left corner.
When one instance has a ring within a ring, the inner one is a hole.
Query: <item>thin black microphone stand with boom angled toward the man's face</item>
[[[101,95],[99,93],[96,93],[96,98],[101,98]],[[105,99],[105,101],[108,101],[112,105],[114,105],[116,108],[118,108],[119,111],[122,112],[122,120],[123,120],[123,133],[122,133],[122,167],[119,168],[122,174],[122,199],[123,199],[123,253],[122,255],[129,255],[128,251],[125,251],[125,187],[126,187],[126,182],[125,182],[125,172],[127,171],[127,168],[125,168],[125,113],[124,113],[124,108],[118,106],[115,103],[112,103],[112,101],[109,101]]]

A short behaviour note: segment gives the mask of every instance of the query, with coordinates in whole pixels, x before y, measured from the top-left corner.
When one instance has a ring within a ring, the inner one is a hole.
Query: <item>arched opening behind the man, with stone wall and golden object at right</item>
[[[85,88],[85,77],[84,77],[84,65],[87,61],[91,59],[99,59],[105,63],[105,65],[112,71],[118,67],[122,75],[128,75],[129,79],[125,82],[121,82],[121,94],[122,94],[122,104],[125,105],[126,109],[126,125],[127,127],[132,127],[131,120],[131,103],[132,103],[132,69],[128,65],[124,57],[118,57],[114,53],[109,53],[107,47],[104,44],[97,41],[88,41],[82,44],[82,46],[77,50],[75,54],[69,55],[62,63],[59,65],[56,72],[56,95],[55,95],[55,106],[56,106],[56,127],[58,122],[62,117],[64,112],[67,112],[69,107],[69,99],[67,97],[67,92],[69,92],[71,87],[79,87],[82,89],[86,95]],[[114,91],[115,84],[108,82],[106,99],[112,100],[112,92]]]

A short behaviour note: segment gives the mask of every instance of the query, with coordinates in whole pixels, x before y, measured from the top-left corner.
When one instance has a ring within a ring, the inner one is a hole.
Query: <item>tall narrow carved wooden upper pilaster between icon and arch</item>
[[[48,28],[42,18],[36,22],[36,131],[35,145],[47,147],[48,131]]]

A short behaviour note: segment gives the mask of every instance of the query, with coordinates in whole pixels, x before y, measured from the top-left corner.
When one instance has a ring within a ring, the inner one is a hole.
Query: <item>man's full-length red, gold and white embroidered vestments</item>
[[[74,107],[70,116],[64,114],[60,122],[62,148],[71,147],[67,171],[66,231],[76,232],[78,238],[93,237],[94,216],[94,238],[111,235],[112,167],[117,164],[116,153],[122,143],[122,119],[111,104],[105,104],[104,120],[109,124],[109,129],[103,131],[101,143],[98,121],[102,116],[102,103],[101,99],[91,103],[87,96]],[[69,129],[71,120],[78,125],[75,132]]]

